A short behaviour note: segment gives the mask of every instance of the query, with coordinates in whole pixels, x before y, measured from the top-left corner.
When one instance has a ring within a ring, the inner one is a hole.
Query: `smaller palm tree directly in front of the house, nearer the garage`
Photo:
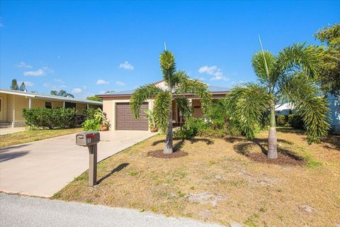
[[[154,121],[157,128],[162,133],[166,133],[164,154],[173,152],[172,140],[172,101],[176,101],[179,111],[184,117],[192,114],[191,102],[185,94],[200,97],[203,112],[208,111],[211,104],[211,95],[208,92],[207,84],[198,79],[189,79],[184,71],[176,71],[174,55],[164,50],[159,57],[161,70],[166,83],[166,88],[162,89],[154,84],[147,84],[139,87],[132,93],[130,109],[135,118],[140,117],[140,106],[147,99],[154,98]]]

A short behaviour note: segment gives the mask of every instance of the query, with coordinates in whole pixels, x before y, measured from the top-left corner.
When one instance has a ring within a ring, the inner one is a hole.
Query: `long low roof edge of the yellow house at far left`
[[[55,96],[51,94],[22,92],[22,91],[2,89],[2,88],[0,89],[0,93],[16,94],[20,96],[28,96],[28,97],[37,98],[37,99],[52,99],[52,100],[58,100],[58,101],[69,101],[69,102],[77,102],[77,103],[83,103],[83,104],[94,104],[94,105],[100,105],[100,106],[103,105],[101,101],[91,101],[87,99],[77,99],[77,98],[70,98],[70,97],[63,97],[63,96]]]

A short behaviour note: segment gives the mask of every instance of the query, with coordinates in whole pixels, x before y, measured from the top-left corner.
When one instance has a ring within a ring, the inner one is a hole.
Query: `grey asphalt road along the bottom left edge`
[[[108,206],[0,194],[0,226],[220,226]]]

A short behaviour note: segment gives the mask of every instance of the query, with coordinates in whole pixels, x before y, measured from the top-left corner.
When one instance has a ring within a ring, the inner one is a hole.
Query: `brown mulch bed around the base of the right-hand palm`
[[[306,160],[302,158],[292,157],[290,155],[285,155],[282,153],[278,153],[278,158],[269,159],[267,155],[263,153],[249,153],[246,155],[250,160],[255,162],[267,163],[267,164],[276,164],[276,165],[300,165],[303,166],[306,163]]]

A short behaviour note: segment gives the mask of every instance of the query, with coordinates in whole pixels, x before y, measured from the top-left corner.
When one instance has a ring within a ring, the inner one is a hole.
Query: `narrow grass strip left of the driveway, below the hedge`
[[[11,133],[0,135],[0,148],[8,147],[10,145],[18,145],[21,143],[28,143],[37,140],[44,140],[60,135],[68,135],[83,131],[82,128],[69,128],[69,129],[53,129],[53,130],[34,130],[23,131],[18,133]]]

